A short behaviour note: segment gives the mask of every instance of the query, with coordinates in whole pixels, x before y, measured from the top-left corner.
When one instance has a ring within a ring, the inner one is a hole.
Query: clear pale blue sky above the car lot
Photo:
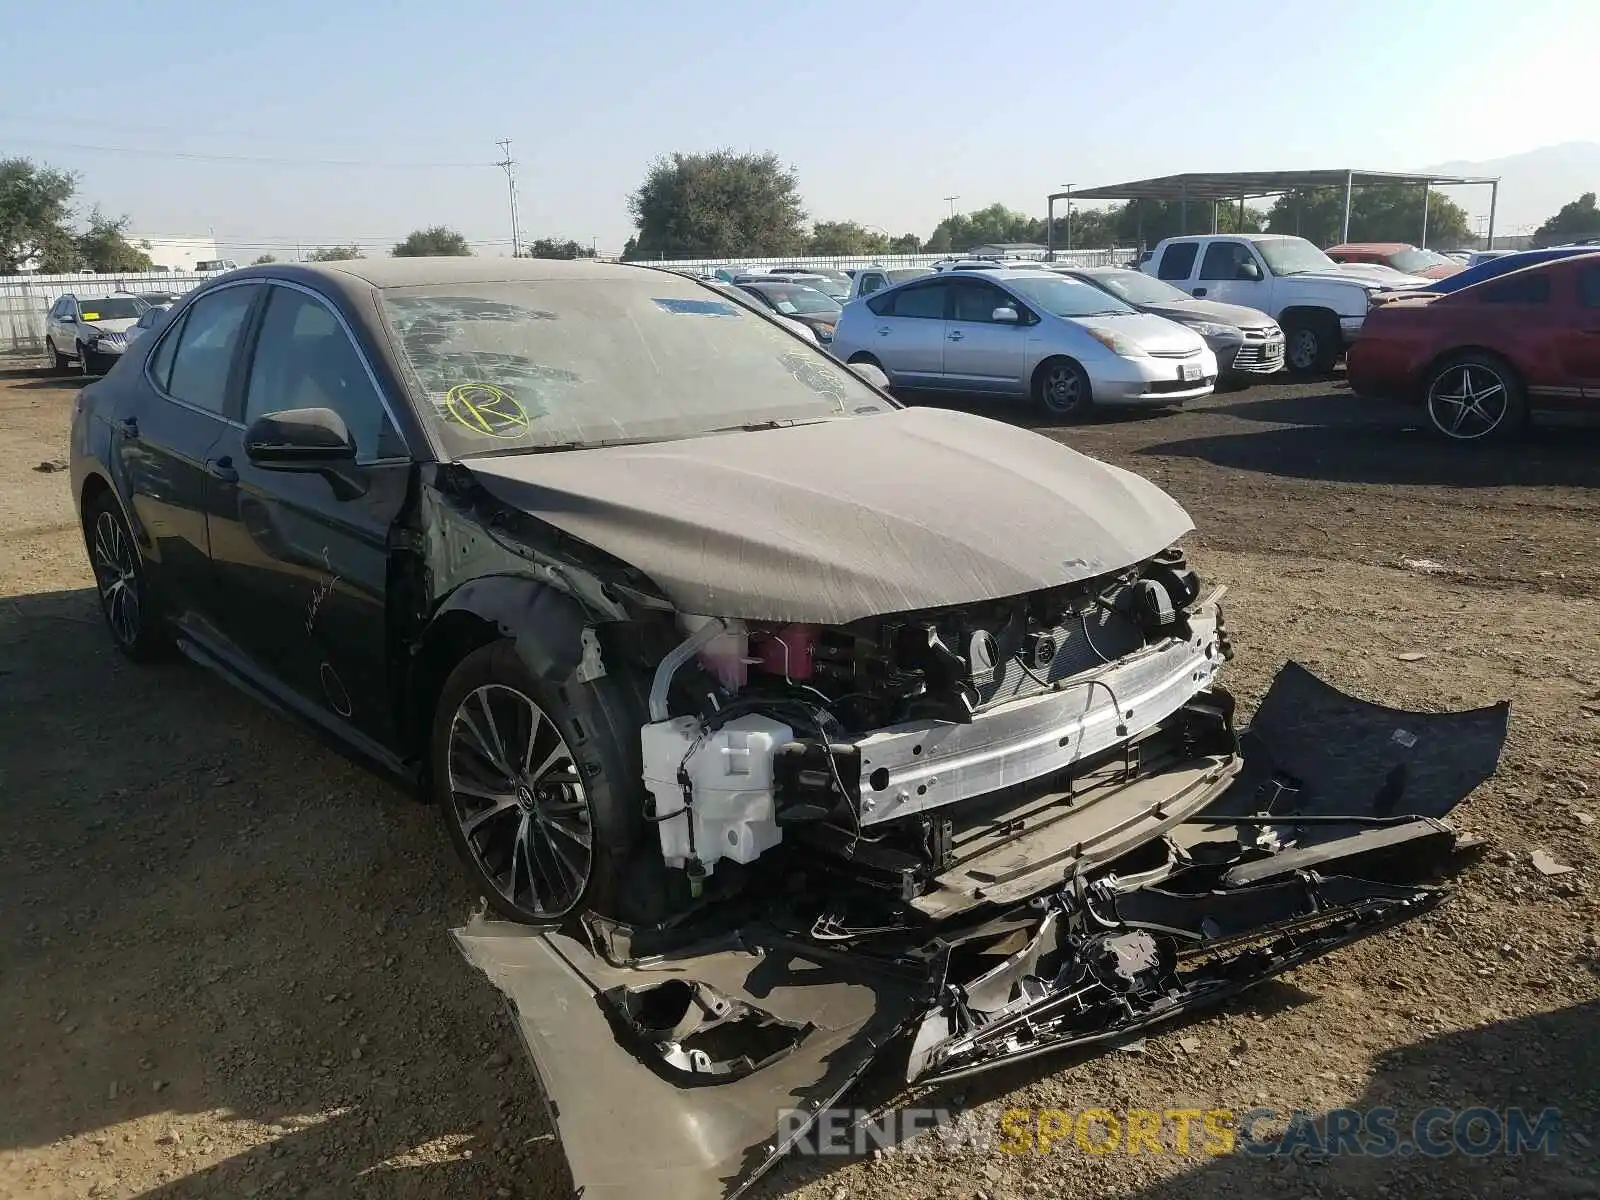
[[[1600,0],[0,0],[0,155],[240,258],[430,224],[504,253],[499,138],[525,237],[602,251],[672,150],[774,150],[813,218],[926,237],[947,195],[1600,139]]]

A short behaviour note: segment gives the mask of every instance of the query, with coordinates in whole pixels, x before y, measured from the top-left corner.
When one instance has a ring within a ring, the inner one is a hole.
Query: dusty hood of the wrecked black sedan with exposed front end
[[[645,571],[680,611],[757,621],[1021,595],[1194,528],[1128,470],[931,408],[462,466],[502,504]]]

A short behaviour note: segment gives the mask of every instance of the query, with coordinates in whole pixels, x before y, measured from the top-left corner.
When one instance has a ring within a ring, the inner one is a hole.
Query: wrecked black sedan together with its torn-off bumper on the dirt
[[[72,482],[126,654],[438,805],[586,1195],[1414,917],[1506,734],[1294,666],[1240,728],[1171,498],[645,267],[230,272],[83,389]]]

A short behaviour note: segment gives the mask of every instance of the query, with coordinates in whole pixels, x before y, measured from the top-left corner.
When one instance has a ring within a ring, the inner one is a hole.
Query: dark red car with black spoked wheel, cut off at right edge
[[[1523,267],[1366,314],[1347,358],[1358,395],[1419,403],[1445,437],[1480,442],[1534,410],[1600,402],[1600,253]]]

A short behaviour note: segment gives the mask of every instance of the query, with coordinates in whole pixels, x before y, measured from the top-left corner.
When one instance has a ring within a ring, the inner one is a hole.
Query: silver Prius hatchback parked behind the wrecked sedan
[[[1099,288],[995,267],[910,280],[851,301],[834,355],[898,387],[1030,395],[1053,418],[1179,405],[1216,387],[1205,339]]]

